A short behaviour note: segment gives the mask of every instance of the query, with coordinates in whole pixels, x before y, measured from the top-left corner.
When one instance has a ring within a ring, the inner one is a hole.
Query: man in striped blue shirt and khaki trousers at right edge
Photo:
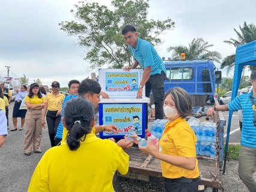
[[[254,103],[256,103],[256,70],[251,73],[252,91],[234,98],[230,103],[210,107],[207,115],[212,116],[215,110],[243,110],[243,129],[241,134],[241,148],[239,153],[239,178],[249,191],[256,191],[256,182],[253,178],[256,169],[256,119],[254,118]]]

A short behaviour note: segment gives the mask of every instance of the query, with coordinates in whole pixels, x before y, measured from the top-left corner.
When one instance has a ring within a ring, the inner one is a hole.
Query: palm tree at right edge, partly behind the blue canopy
[[[250,43],[250,42],[256,40],[256,26],[253,23],[248,25],[245,22],[245,23],[243,23],[242,27],[239,25],[239,29],[240,29],[241,32],[234,29],[234,31],[237,34],[237,40],[234,40],[233,38],[230,38],[230,40],[224,41],[224,42],[237,47],[237,46],[240,46],[242,44]],[[236,58],[236,54],[232,54],[232,55],[226,56],[223,59],[223,61],[221,63],[221,69],[227,67],[227,74],[234,67],[235,58]],[[246,66],[244,65],[243,66],[243,72],[244,72],[245,68],[246,68]],[[254,68],[255,68],[255,66],[250,66],[249,70],[253,71]]]

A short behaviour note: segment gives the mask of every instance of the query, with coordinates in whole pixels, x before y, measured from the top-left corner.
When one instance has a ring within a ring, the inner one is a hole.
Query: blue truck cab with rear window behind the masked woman
[[[210,59],[163,61],[166,69],[165,92],[175,86],[186,90],[194,106],[205,106],[208,95],[214,95],[215,83],[221,82],[221,71],[215,71]]]

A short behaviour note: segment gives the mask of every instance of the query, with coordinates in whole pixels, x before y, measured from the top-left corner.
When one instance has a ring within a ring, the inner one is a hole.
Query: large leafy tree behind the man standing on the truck
[[[78,37],[78,45],[85,48],[84,59],[90,68],[97,69],[107,64],[109,68],[123,68],[132,64],[129,47],[121,29],[127,23],[136,27],[139,37],[154,46],[162,43],[159,35],[174,28],[169,19],[147,19],[148,0],[113,0],[112,8],[97,2],[80,2],[71,10],[77,21],[61,22],[61,30]]]

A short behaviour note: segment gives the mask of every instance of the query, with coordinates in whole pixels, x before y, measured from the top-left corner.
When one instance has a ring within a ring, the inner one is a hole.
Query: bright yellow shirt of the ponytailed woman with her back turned
[[[92,133],[80,143],[76,151],[70,151],[66,143],[47,150],[35,168],[28,192],[114,191],[114,173],[128,172],[129,155],[111,140]]]

